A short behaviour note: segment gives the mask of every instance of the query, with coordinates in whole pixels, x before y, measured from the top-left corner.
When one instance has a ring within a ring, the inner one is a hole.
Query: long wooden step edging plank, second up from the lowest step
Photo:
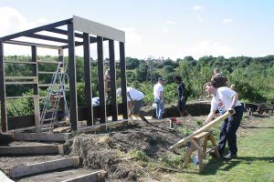
[[[47,172],[50,170],[56,170],[65,167],[79,167],[80,157],[68,157],[58,160],[51,160],[47,162],[41,162],[32,165],[18,166],[10,168],[9,176],[10,177],[23,177],[27,175],[33,175],[37,173]]]

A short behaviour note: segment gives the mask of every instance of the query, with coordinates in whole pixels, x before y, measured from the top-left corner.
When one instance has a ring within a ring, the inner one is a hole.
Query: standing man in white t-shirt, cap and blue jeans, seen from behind
[[[154,102],[156,103],[156,118],[163,118],[163,77],[158,78],[158,83],[153,86]]]

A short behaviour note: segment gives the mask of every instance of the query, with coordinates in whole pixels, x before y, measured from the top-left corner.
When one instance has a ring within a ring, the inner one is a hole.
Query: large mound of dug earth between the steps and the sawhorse
[[[147,170],[148,160],[168,155],[168,147],[179,139],[163,128],[139,123],[108,134],[79,135],[70,145],[84,167],[107,170],[109,181],[135,181]]]

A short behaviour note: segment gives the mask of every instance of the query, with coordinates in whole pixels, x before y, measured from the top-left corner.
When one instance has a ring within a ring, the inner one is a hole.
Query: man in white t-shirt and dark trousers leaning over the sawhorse
[[[210,113],[205,119],[205,123],[212,121],[215,116],[216,110],[218,109],[220,114],[232,110],[235,110],[233,116],[229,116],[220,128],[218,152],[223,155],[226,143],[228,144],[229,153],[225,156],[225,159],[232,159],[237,157],[237,128],[240,125],[244,107],[238,101],[238,94],[234,90],[222,86],[223,80],[219,76],[215,76],[212,80],[205,84],[205,91],[209,95],[213,95],[211,100]],[[211,156],[215,157],[215,153],[209,153]]]

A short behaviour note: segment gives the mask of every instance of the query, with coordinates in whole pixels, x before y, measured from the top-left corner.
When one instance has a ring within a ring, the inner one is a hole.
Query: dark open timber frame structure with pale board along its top
[[[43,35],[42,32],[54,33],[52,35]],[[66,38],[64,38],[64,35]],[[21,37],[30,37],[38,40],[47,40],[54,44],[39,44],[18,40]],[[77,40],[76,40],[77,39]],[[109,57],[110,57],[110,71],[111,71],[111,105],[106,106],[105,102],[105,86],[104,84],[104,65],[103,65],[103,41],[109,42]],[[114,41],[119,42],[120,51],[120,68],[121,68],[121,96],[122,103],[118,109],[116,98],[116,66],[115,66],[115,51]],[[59,21],[49,25],[39,26],[37,28],[29,29],[13,35],[6,35],[0,38],[0,101],[1,101],[1,129],[6,132],[12,129],[24,128],[30,126],[37,126],[39,124],[40,108],[39,108],[39,73],[37,65],[37,48],[48,48],[58,50],[58,61],[63,61],[64,49],[68,49],[68,73],[69,73],[69,106],[70,106],[70,123],[71,130],[78,130],[78,121],[87,120],[88,126],[95,125],[94,118],[100,118],[100,124],[106,123],[107,116],[112,116],[112,121],[117,121],[118,113],[122,114],[124,119],[128,118],[127,115],[127,101],[126,101],[126,66],[125,66],[125,33],[121,30],[112,28],[107,25],[73,16],[72,18]],[[26,45],[31,47],[31,62],[18,61],[12,64],[30,64],[33,66],[32,76],[25,77],[8,77],[5,76],[4,60],[4,45]],[[99,93],[100,93],[100,106],[92,108],[91,98],[91,69],[90,69],[90,44],[97,45],[98,55],[98,78],[99,78]],[[75,46],[83,46],[84,58],[84,80],[85,80],[85,96],[86,106],[79,108],[77,101],[76,90],[76,60],[75,60]],[[44,62],[45,63],[45,62]],[[52,64],[52,62],[47,62]],[[58,62],[57,62],[58,63]],[[45,74],[45,73],[44,73]],[[9,81],[15,80],[15,81]],[[22,81],[24,80],[24,81]],[[23,96],[6,96],[5,86],[7,85],[26,85],[33,86],[33,96],[35,115],[31,116],[15,116],[8,117],[6,113],[6,100],[7,99],[20,99]],[[96,110],[96,111],[95,111]]]

